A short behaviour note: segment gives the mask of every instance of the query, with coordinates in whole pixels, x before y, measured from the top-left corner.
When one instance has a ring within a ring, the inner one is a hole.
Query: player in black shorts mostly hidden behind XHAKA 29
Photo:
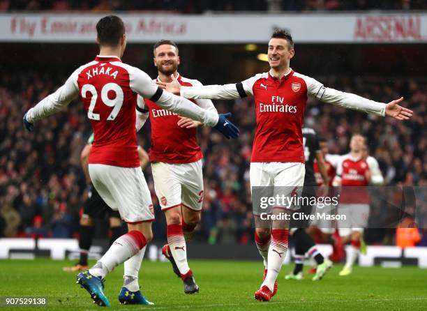
[[[82,170],[89,187],[88,198],[83,204],[83,214],[82,218],[80,218],[80,257],[75,265],[63,267],[63,271],[66,272],[84,271],[89,268],[87,259],[93,238],[93,218],[103,218],[105,215],[109,216],[111,229],[110,245],[124,233],[119,211],[113,211],[110,206],[104,202],[103,198],[100,197],[98,191],[93,188],[91,176],[89,176],[89,152],[91,151],[92,143],[93,134],[87,139],[87,144],[80,154]],[[149,155],[140,146],[138,146],[138,155],[141,169],[144,169],[149,163]]]

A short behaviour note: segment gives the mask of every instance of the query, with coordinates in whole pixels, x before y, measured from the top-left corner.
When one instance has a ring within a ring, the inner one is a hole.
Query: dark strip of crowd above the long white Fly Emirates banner
[[[425,10],[423,0],[0,0],[0,11],[13,10],[163,10],[209,11]]]

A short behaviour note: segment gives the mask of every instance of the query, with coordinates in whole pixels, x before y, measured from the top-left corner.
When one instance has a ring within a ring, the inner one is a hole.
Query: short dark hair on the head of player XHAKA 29
[[[96,32],[98,33],[99,45],[116,47],[119,45],[121,36],[126,33],[126,29],[120,17],[108,15],[98,21]]]

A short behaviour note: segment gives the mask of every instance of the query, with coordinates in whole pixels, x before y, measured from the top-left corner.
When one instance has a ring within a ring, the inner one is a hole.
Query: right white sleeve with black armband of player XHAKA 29
[[[135,93],[143,98],[152,100],[160,107],[195,121],[200,121],[204,123],[205,126],[216,126],[216,123],[218,123],[218,113],[207,111],[194,105],[186,98],[163,91],[163,89],[160,89],[156,83],[151,80],[147,73],[135,67],[129,67],[132,68],[129,70],[130,89]]]

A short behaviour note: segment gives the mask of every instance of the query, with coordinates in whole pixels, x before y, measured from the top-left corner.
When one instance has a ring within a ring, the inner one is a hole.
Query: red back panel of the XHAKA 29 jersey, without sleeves
[[[137,94],[130,89],[130,73],[121,66],[120,59],[97,56],[80,71],[77,84],[93,127],[89,163],[139,167]]]

